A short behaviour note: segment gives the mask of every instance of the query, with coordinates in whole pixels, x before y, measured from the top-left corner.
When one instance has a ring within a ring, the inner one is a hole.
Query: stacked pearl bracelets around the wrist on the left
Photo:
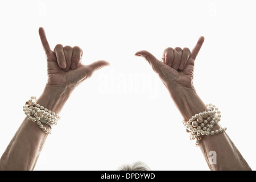
[[[45,133],[51,134],[51,130],[46,129],[44,125],[48,125],[51,128],[52,125],[57,125],[60,115],[44,108],[44,106],[40,106],[35,100],[36,97],[31,97],[31,99],[23,106],[23,111],[29,121],[36,122],[36,125],[38,125]]]

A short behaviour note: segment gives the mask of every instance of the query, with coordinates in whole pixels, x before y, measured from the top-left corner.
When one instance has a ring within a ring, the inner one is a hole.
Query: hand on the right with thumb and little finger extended
[[[147,51],[139,51],[135,55],[144,57],[151,64],[167,89],[176,85],[192,88],[195,60],[203,43],[204,37],[201,36],[192,52],[188,48],[167,48],[163,52],[162,61]]]

